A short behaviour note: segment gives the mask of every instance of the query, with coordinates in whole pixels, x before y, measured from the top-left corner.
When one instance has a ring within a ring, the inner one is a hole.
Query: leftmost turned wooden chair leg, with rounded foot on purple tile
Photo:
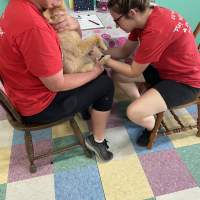
[[[34,164],[34,149],[33,149],[33,142],[32,136],[29,130],[25,131],[24,135],[25,145],[26,145],[26,152],[28,154],[28,159],[30,161],[30,172],[35,173],[37,171],[36,165]]]

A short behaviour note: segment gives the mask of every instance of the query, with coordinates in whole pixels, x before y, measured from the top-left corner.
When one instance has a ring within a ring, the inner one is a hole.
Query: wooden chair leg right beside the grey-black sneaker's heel
[[[93,153],[87,149],[87,147],[85,145],[84,137],[83,137],[83,135],[81,133],[81,130],[80,130],[76,120],[75,119],[71,119],[70,120],[70,125],[71,125],[75,135],[78,137],[79,142],[80,142],[80,144],[81,144],[86,156],[91,158],[93,156]]]

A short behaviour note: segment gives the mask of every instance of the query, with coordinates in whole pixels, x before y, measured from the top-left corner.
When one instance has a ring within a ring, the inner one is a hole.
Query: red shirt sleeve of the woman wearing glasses
[[[169,37],[169,36],[168,36]],[[140,45],[135,53],[135,61],[140,64],[158,62],[166,50],[169,38],[159,30],[144,31],[140,37]]]

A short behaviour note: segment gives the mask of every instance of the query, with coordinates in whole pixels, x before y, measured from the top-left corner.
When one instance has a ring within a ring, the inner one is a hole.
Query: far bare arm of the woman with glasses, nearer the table
[[[105,54],[111,55],[113,59],[124,59],[131,55],[138,46],[138,42],[127,40],[122,47],[109,48]]]

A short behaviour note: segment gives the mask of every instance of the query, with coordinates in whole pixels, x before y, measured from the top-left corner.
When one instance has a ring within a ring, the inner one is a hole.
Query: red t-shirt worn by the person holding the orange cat
[[[61,50],[54,29],[36,6],[11,0],[0,18],[0,74],[8,97],[18,112],[31,116],[54,99],[38,77],[62,68]]]

